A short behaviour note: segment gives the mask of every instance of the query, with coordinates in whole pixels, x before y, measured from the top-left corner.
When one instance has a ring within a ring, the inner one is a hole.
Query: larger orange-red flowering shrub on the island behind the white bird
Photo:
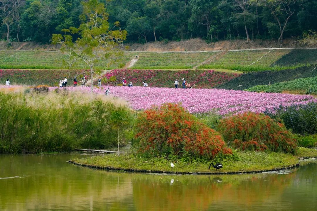
[[[178,104],[163,104],[142,112],[135,124],[133,148],[153,156],[189,153],[214,158],[218,153],[232,154],[222,136],[197,121]]]

